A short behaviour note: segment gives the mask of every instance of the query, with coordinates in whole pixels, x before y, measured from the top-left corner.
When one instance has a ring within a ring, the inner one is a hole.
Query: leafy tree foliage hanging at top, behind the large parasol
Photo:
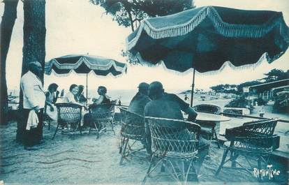
[[[147,17],[158,17],[179,13],[194,8],[191,0],[90,0],[105,8],[112,19],[132,31]]]

